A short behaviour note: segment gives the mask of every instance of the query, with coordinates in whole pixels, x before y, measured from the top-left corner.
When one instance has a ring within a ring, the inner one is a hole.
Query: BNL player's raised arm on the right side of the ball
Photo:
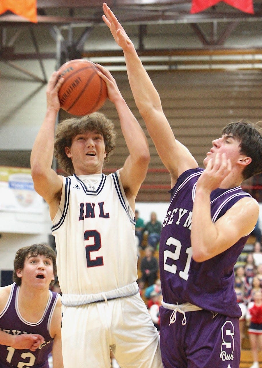
[[[121,130],[128,147],[129,156],[119,171],[126,197],[134,210],[134,201],[141,183],[146,177],[150,161],[148,142],[138,121],[123,99],[111,73],[99,64],[97,67],[101,71],[99,73],[101,78],[107,84],[108,98],[114,103],[118,112]]]

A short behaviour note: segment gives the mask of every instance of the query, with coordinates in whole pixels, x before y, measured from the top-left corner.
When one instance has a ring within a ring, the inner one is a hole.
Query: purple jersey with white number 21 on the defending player
[[[164,301],[190,302],[209,311],[240,317],[234,291],[234,265],[248,239],[204,262],[191,259],[191,220],[195,185],[203,169],[185,171],[172,188],[171,202],[162,225],[159,270]],[[251,197],[241,187],[211,192],[211,218],[223,216],[239,199]]]

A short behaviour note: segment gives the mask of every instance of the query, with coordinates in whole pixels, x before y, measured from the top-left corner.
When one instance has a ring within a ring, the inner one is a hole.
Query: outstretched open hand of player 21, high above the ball
[[[112,12],[112,10],[107,6],[107,3],[103,4],[103,11],[104,14],[102,16],[103,21],[110,29],[112,36],[115,39],[115,42],[122,47],[123,50],[130,44],[132,44],[130,38],[125,32],[125,29],[123,29],[122,25],[117,20],[115,14]]]

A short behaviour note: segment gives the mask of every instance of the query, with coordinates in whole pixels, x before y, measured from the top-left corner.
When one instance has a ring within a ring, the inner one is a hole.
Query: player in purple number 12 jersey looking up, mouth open
[[[55,252],[46,244],[20,248],[12,285],[0,288],[0,367],[63,368],[61,298],[49,290]]]

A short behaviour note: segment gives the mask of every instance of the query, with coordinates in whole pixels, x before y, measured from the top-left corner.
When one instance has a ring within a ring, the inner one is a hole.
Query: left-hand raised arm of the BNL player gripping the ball
[[[47,110],[43,124],[33,144],[30,163],[35,190],[49,204],[51,218],[57,212],[62,190],[62,177],[51,168],[54,153],[54,130],[60,109],[58,90],[63,78],[54,72],[47,85]]]

